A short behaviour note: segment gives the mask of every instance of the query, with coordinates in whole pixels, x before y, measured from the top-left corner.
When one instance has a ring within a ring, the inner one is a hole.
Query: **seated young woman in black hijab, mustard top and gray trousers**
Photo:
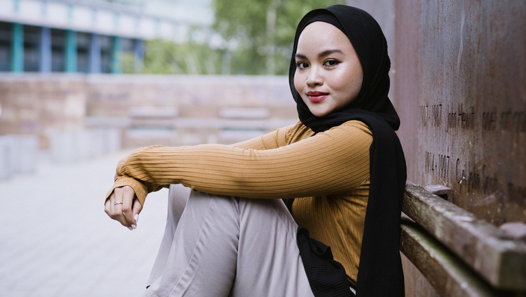
[[[145,296],[403,296],[405,159],[389,69],[372,16],[313,10],[289,72],[296,125],[121,159],[105,207],[125,227],[136,227],[148,192],[188,187],[171,186]]]

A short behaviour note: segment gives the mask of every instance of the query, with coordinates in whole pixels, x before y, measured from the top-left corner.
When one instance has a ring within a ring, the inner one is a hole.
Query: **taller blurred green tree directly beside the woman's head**
[[[310,10],[335,0],[214,0],[213,29],[225,40],[236,40],[230,73],[285,75],[298,22]]]

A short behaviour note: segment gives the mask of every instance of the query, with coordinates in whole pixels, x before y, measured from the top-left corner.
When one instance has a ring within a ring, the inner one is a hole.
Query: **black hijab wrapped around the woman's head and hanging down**
[[[363,82],[357,98],[349,105],[322,117],[314,116],[309,111],[294,88],[298,38],[303,29],[315,21],[330,23],[343,31],[355,48],[363,68]],[[394,133],[400,126],[400,119],[387,97],[390,88],[389,69],[390,59],[387,55],[385,36],[378,23],[367,12],[346,5],[333,5],[313,10],[300,21],[294,38],[289,70],[289,85],[297,104],[300,121],[315,133],[326,131],[348,120],[360,120],[372,131],[370,191],[361,244],[357,296],[404,295],[398,249],[406,168],[400,141]],[[326,253],[326,250],[320,252],[320,246],[308,239],[308,233],[307,237],[300,233],[302,232],[298,231],[298,246],[315,296],[335,296],[330,287],[338,282],[323,279],[320,275],[320,265],[323,264],[310,260],[326,257],[320,254]],[[310,246],[309,251],[304,248],[307,245]],[[330,248],[328,250],[330,254]],[[310,255],[306,255],[307,253]],[[331,263],[330,266],[335,264]],[[330,274],[330,278],[335,275]],[[349,296],[347,292],[342,294]]]

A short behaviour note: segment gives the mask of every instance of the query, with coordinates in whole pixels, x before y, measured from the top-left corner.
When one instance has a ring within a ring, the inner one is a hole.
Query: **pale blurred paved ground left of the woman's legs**
[[[108,218],[104,195],[123,155],[40,161],[34,175],[0,181],[0,296],[141,296],[168,191],[148,196],[134,231]]]

